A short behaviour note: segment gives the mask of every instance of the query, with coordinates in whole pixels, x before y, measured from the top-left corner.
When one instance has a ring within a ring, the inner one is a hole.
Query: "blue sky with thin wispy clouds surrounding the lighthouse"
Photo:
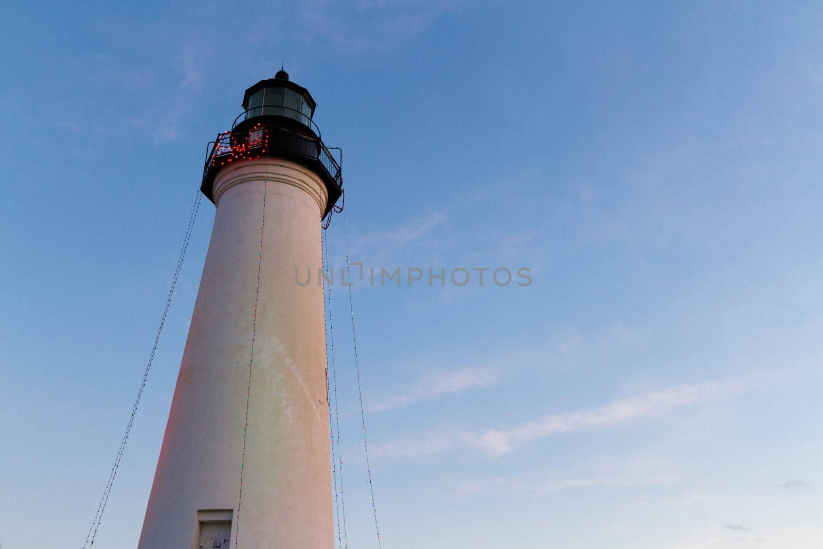
[[[818,547],[823,7],[15,2],[0,33],[3,549],[79,547],[205,145],[285,63],[345,151],[383,547]],[[103,525],[134,547],[204,203]],[[328,231],[342,265],[342,218]],[[332,295],[351,547],[375,547]]]

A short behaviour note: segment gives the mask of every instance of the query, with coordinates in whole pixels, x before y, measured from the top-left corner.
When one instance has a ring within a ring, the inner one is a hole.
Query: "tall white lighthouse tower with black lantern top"
[[[322,221],[341,170],[281,70],[210,143],[216,207],[138,549],[331,549]]]

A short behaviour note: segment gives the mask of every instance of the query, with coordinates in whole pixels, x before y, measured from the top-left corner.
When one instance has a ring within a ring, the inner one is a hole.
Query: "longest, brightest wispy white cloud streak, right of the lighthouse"
[[[741,384],[709,382],[686,384],[640,397],[623,398],[601,407],[549,414],[509,429],[455,432],[446,435],[397,440],[378,446],[374,454],[383,457],[419,457],[457,448],[481,450],[488,456],[507,454],[523,444],[551,435],[616,426],[629,421],[658,416],[663,412],[714,398],[728,397],[743,389]]]

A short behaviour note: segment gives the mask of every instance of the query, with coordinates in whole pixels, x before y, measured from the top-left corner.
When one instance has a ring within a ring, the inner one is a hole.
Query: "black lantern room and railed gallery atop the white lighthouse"
[[[282,68],[274,78],[258,81],[243,96],[243,113],[229,132],[209,143],[200,190],[214,202],[212,185],[223,166],[244,160],[281,156],[313,170],[323,179],[328,215],[342,194],[340,161],[332,156],[314,123],[317,103],[309,91],[289,80]],[[337,147],[337,158],[340,158]]]

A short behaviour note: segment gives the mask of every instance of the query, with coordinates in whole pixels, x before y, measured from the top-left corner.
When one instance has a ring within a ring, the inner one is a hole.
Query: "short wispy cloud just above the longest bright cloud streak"
[[[500,380],[501,369],[496,366],[461,368],[449,372],[428,372],[406,390],[378,396],[370,404],[373,412],[393,410],[415,402],[434,400],[447,394],[462,393],[472,388],[490,387]]]

